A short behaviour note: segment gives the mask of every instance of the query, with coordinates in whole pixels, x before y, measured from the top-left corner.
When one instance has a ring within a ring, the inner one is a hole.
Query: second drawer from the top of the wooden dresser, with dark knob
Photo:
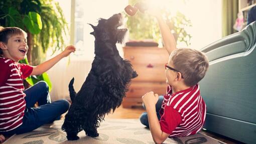
[[[164,64],[133,64],[138,76],[132,81],[165,82]]]

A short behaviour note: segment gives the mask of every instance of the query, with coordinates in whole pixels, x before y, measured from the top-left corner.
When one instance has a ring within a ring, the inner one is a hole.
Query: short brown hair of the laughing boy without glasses
[[[17,34],[24,34],[27,37],[27,33],[19,27],[3,27],[0,26],[0,41],[8,43],[8,39]],[[3,51],[0,48],[0,56],[3,56]]]

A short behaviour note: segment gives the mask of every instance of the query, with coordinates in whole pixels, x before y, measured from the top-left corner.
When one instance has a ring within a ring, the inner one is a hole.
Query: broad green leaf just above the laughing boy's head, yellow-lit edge
[[[34,11],[30,11],[28,15],[25,15],[23,23],[32,34],[38,34],[42,29],[41,16]]]

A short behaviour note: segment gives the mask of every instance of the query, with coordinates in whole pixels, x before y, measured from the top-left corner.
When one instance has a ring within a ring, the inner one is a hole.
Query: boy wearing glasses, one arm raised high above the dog
[[[164,96],[152,91],[142,96],[147,112],[140,120],[150,127],[153,140],[162,143],[167,137],[195,134],[203,127],[206,105],[198,82],[204,77],[209,62],[201,51],[177,48],[171,30],[158,11],[148,10],[157,18],[165,48],[170,54],[165,65],[168,88]]]

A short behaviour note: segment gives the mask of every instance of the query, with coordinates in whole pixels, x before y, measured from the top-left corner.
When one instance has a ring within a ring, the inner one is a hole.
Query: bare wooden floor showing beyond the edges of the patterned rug
[[[121,105],[120,107],[115,109],[113,113],[106,115],[105,118],[139,118],[141,113],[144,111],[145,109],[143,109],[142,107],[123,108]],[[234,140],[234,139],[231,139],[207,130],[201,130],[201,132],[228,144],[242,143],[237,140]]]

